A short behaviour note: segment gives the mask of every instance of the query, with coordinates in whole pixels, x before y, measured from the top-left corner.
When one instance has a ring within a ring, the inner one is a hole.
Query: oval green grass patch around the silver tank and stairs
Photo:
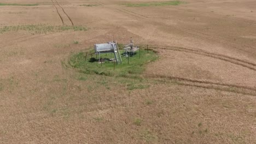
[[[85,74],[97,74],[106,76],[118,76],[118,77],[136,77],[145,70],[145,65],[149,62],[156,61],[158,55],[155,52],[147,50],[141,50],[141,57],[139,58],[139,51],[132,56],[128,57],[121,56],[123,59],[122,64],[117,64],[112,61],[105,60],[104,63],[98,62],[98,57],[96,59],[95,54],[90,54],[92,51],[78,52],[71,56],[69,59],[69,64],[78,69],[80,72]],[[120,50],[123,53],[123,50]],[[101,58],[110,59],[114,58],[114,53],[101,54]],[[86,59],[86,60],[85,60]],[[115,69],[114,69],[115,67]],[[142,89],[148,86],[144,85],[131,85],[127,86],[128,89]]]

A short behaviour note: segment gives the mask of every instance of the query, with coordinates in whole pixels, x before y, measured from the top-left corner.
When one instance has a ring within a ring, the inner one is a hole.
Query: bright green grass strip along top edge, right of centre
[[[149,6],[166,6],[166,5],[180,5],[182,1],[167,1],[167,2],[148,2],[148,3],[135,3],[125,4],[127,7],[149,7]]]

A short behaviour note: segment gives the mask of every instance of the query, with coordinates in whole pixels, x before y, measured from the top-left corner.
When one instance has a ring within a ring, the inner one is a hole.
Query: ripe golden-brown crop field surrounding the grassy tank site
[[[255,143],[256,2],[125,3],[138,2],[0,6],[0,28],[89,28],[0,33],[0,143]],[[67,66],[74,52],[112,39],[126,44],[130,37],[160,56],[141,81]],[[146,88],[129,90],[125,82]]]

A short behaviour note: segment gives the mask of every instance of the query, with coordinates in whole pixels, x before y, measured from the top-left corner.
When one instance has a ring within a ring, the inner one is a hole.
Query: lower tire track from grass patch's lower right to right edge
[[[200,87],[200,88],[207,88],[207,89],[216,89],[216,90],[219,90],[219,91],[235,92],[235,93],[241,93],[241,94],[248,94],[248,95],[256,96],[256,88],[253,88],[253,87],[233,85],[233,84],[222,83],[222,82],[193,80],[193,79],[186,79],[184,77],[166,76],[166,75],[158,75],[158,74],[157,75],[155,75],[155,74],[154,75],[153,74],[145,74],[144,76],[148,77],[148,78],[152,78],[152,79],[159,79],[160,78],[160,79],[168,79],[168,80],[183,82],[183,83],[177,83],[177,85],[193,86],[193,87]],[[237,91],[229,90],[231,88],[236,88]],[[245,92],[245,91],[247,91],[247,92]]]

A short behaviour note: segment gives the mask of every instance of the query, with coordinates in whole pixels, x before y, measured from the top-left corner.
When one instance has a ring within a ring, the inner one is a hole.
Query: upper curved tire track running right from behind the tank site
[[[140,46],[146,47],[146,45],[140,45]],[[212,53],[212,52],[188,49],[188,48],[184,48],[184,47],[167,47],[167,46],[152,46],[152,45],[149,45],[149,48],[194,53],[196,55],[201,55],[201,56],[207,56],[207,57],[220,59],[222,61],[230,62],[230,63],[240,65],[242,67],[245,67],[245,68],[256,71],[256,64],[255,63],[248,62],[248,61],[245,61],[243,59],[238,59],[238,58],[234,58],[234,57],[229,57],[229,56],[225,56],[225,55]]]

